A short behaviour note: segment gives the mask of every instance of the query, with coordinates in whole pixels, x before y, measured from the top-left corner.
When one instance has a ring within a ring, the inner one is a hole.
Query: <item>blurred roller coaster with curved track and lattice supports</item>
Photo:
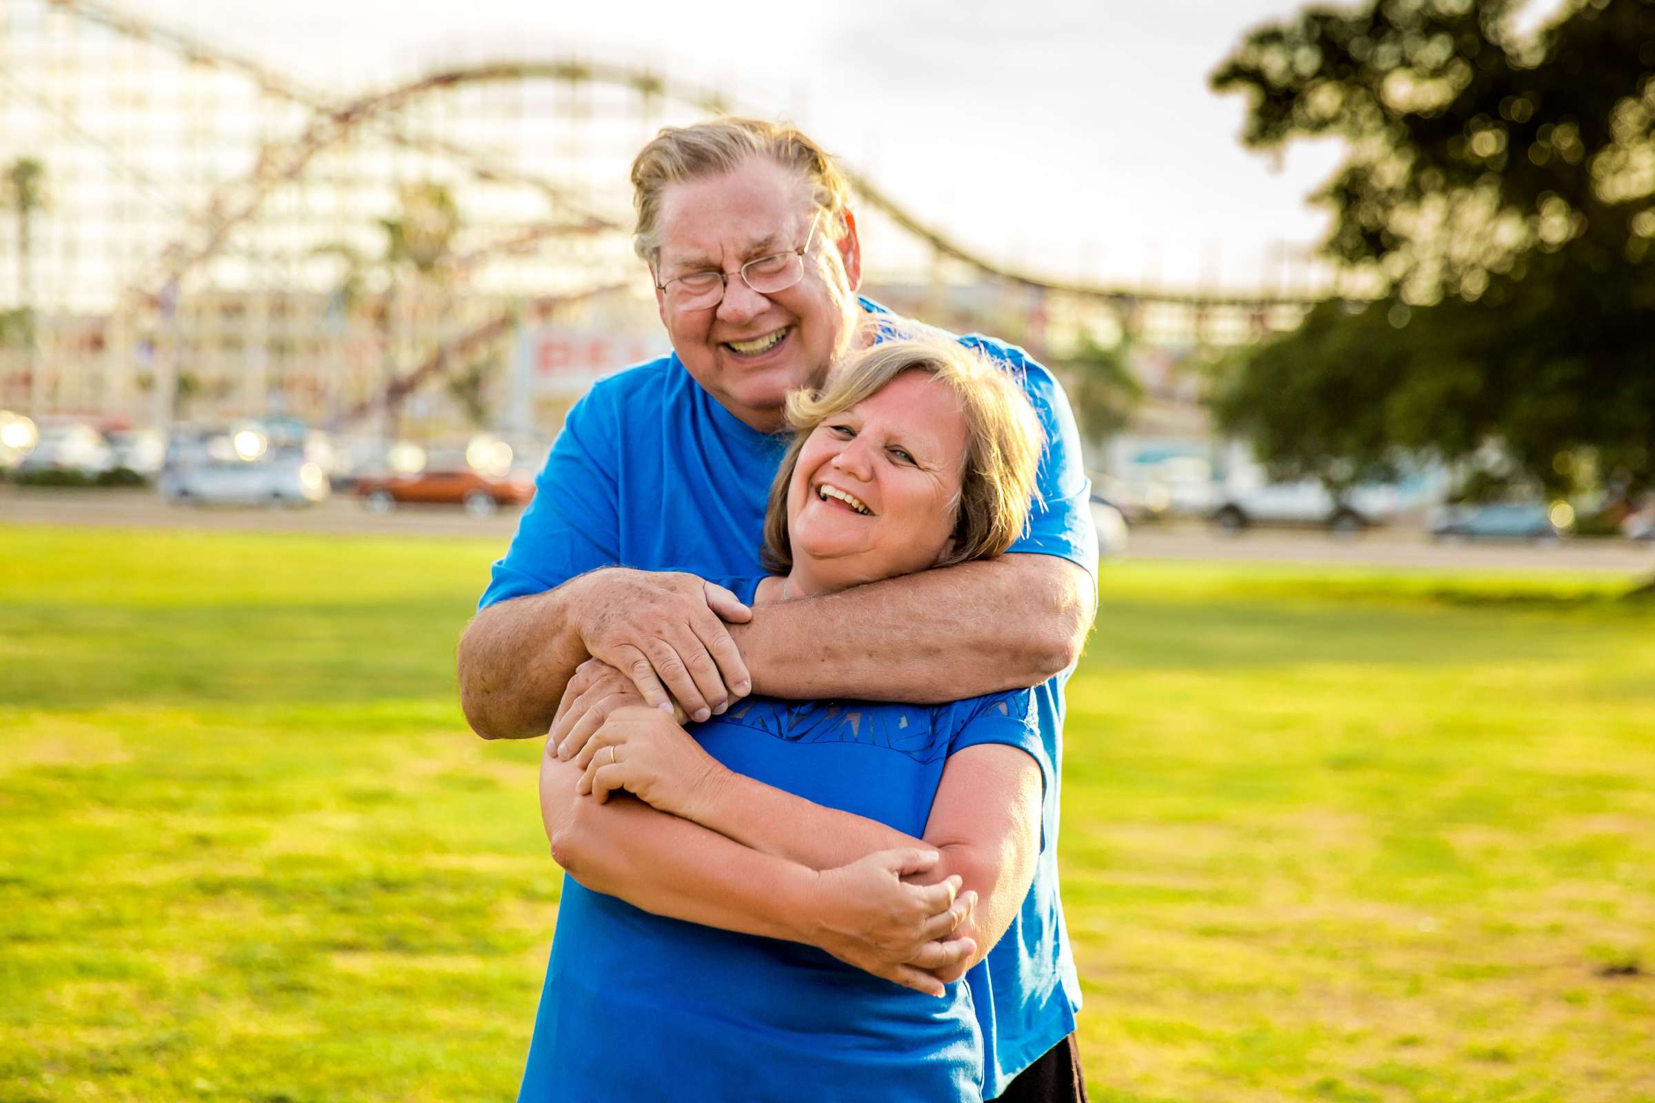
[[[659,347],[631,157],[723,109],[642,68],[558,58],[309,88],[111,3],[8,0],[0,405],[549,432],[596,370],[571,351]],[[1006,271],[856,187],[872,294],[1038,356],[1082,337],[1235,344],[1302,309]]]

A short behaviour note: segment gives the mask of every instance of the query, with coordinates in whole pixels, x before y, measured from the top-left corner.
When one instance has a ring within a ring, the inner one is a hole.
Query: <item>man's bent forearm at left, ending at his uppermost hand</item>
[[[576,580],[477,614],[460,637],[460,706],[485,739],[543,736],[586,661],[573,617]]]

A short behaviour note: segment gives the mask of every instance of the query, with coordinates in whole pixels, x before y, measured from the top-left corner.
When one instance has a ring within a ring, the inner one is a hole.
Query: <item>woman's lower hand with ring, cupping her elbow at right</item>
[[[958,981],[976,953],[970,938],[948,938],[976,906],[976,893],[960,891],[960,878],[909,885],[942,860],[935,850],[880,850],[824,870],[823,908],[811,939],[839,961],[928,996]]]

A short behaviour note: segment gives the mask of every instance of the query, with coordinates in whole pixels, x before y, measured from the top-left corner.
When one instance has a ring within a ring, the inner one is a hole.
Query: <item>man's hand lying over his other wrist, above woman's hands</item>
[[[730,590],[693,574],[629,567],[604,567],[576,584],[586,653],[631,678],[647,704],[677,701],[702,721],[751,690],[725,623],[745,623],[753,610]]]

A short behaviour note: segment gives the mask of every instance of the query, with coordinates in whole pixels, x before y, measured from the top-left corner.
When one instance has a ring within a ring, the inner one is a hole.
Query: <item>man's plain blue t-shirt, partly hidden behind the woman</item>
[[[869,299],[862,306],[887,314]],[[1096,574],[1091,483],[1063,389],[1015,346],[975,334],[960,342],[1015,374],[1046,433],[1038,499],[1011,554],[1059,556]],[[611,566],[713,579],[761,574],[765,504],[784,448],[786,437],[760,433],[725,410],[675,354],[597,382],[569,410],[480,607],[541,594]],[[1063,762],[1066,681],[1067,675],[1059,675],[1033,690],[1041,741],[1054,766]],[[986,1098],[1074,1030],[1081,1005],[1058,901],[1059,797],[1054,771],[1044,794],[1034,885],[990,951],[988,969],[971,981],[988,1052]]]

